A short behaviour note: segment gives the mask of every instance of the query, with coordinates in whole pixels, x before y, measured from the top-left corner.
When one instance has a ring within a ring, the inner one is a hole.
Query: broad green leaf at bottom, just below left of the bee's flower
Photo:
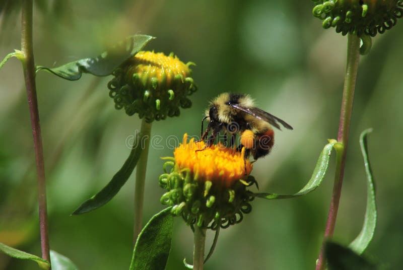
[[[137,238],[130,270],[165,269],[171,249],[173,216],[168,207],[151,218]]]

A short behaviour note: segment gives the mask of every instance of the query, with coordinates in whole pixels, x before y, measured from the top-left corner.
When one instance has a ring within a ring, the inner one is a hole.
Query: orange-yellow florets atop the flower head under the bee
[[[235,181],[244,179],[252,170],[250,161],[244,159],[244,153],[244,148],[238,152],[220,143],[206,148],[204,142],[194,142],[194,139],[188,142],[187,134],[184,134],[183,142],[175,149],[174,156],[176,166],[180,170],[190,169],[193,178],[224,183],[229,187]]]

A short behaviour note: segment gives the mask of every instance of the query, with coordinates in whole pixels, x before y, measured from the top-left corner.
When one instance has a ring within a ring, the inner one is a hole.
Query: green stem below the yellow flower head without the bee
[[[143,200],[144,200],[144,186],[146,183],[146,170],[148,150],[150,147],[150,133],[151,123],[147,123],[143,118],[140,134],[139,144],[143,148],[139,162],[136,166],[136,186],[135,186],[135,210],[134,210],[134,226],[133,226],[133,243],[136,245],[137,237],[142,230],[142,217],[143,217]]]

